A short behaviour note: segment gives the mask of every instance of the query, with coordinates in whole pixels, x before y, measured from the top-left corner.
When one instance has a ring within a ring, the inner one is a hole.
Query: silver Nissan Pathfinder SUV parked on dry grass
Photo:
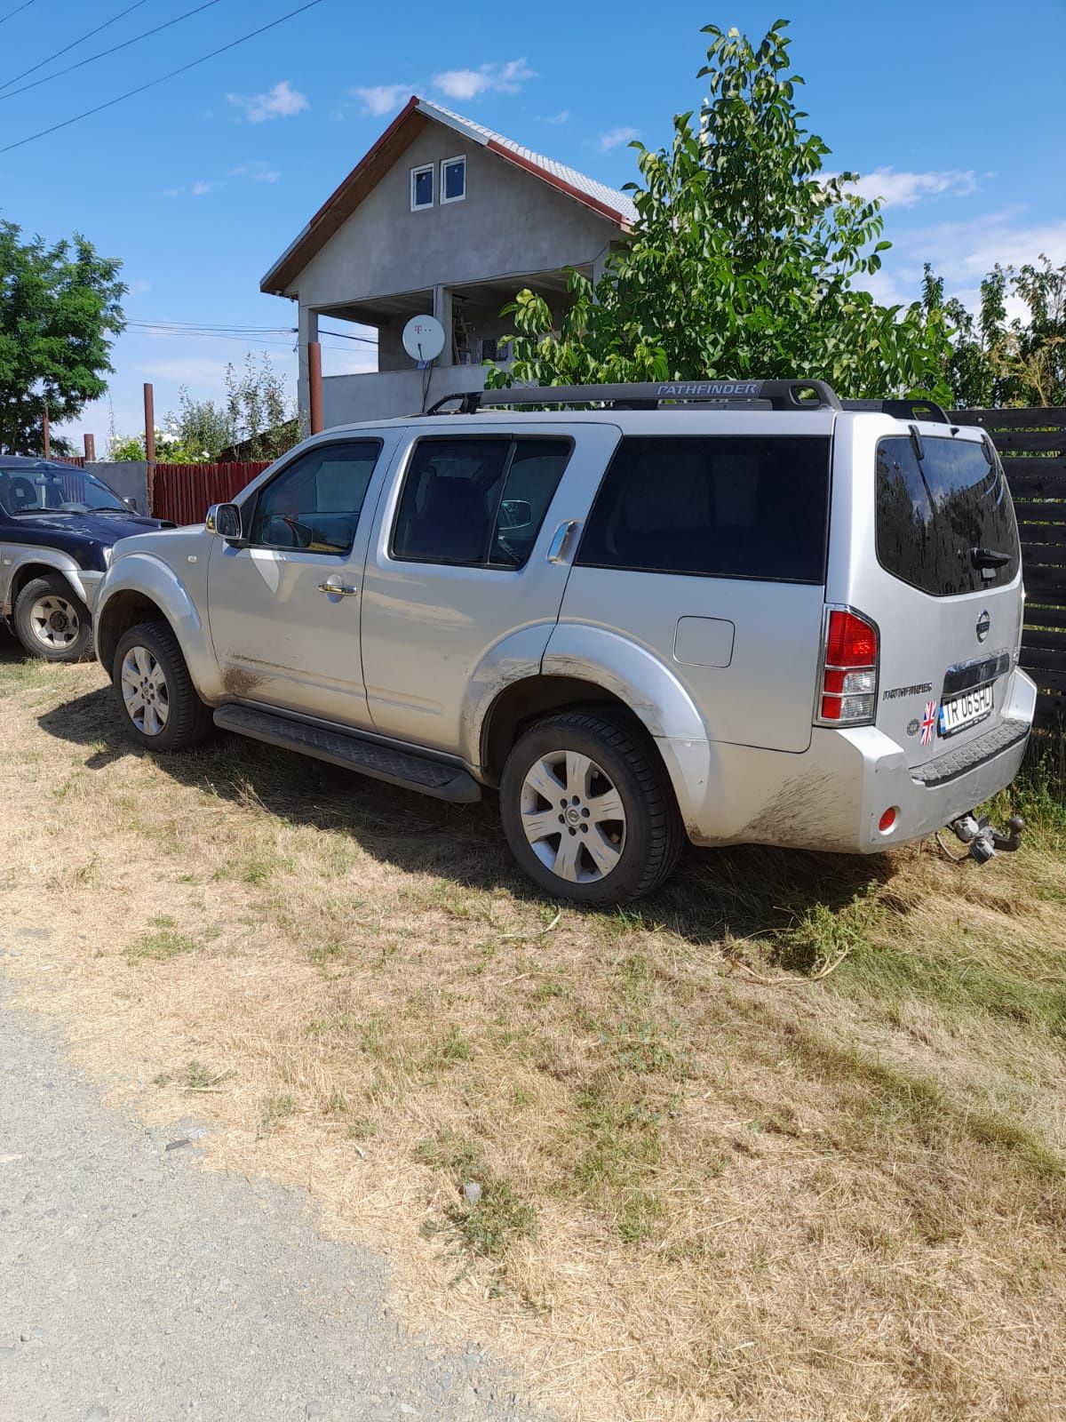
[[[215,724],[443,799],[499,791],[522,869],[607,904],[685,839],[871,853],[951,822],[986,857],[971,811],[1036,700],[1022,603],[981,431],[699,381],[316,435],[206,526],[117,545],[95,624],[142,745]]]

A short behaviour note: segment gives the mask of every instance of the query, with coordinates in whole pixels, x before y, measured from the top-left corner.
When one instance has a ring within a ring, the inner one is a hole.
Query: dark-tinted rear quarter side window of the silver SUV
[[[824,583],[827,508],[823,435],[634,435],[604,475],[576,562]]]

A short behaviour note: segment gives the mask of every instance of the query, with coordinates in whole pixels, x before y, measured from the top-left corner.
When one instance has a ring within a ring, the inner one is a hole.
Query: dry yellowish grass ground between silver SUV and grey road
[[[9,658],[0,698],[16,1001],[215,1122],[210,1165],[310,1190],[408,1320],[583,1422],[1066,1415],[1046,791],[985,870],[694,853],[560,914],[489,806],[141,755],[95,665]]]

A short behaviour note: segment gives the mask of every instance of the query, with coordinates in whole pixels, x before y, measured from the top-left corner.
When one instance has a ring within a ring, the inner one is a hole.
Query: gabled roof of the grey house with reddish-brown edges
[[[546,183],[566,193],[598,216],[615,223],[627,232],[637,218],[632,199],[615,188],[597,182],[576,168],[557,164],[553,158],[534,154],[503,134],[496,134],[482,124],[475,124],[462,114],[431,104],[412,94],[374,146],[352,168],[340,188],[316,212],[303,232],[281,253],[277,262],[259,283],[260,292],[284,296],[286,287],[307,266],[337,232],[362,199],[381,182],[399,155],[414,142],[429,122],[443,124],[462,134],[473,144],[480,144],[489,152],[507,159],[526,172],[542,178]]]

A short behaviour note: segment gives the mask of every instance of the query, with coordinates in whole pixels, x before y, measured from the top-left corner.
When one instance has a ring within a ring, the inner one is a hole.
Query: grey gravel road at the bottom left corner
[[[298,1192],[198,1169],[199,1132],[105,1108],[0,1003],[3,1422],[532,1418],[475,1344],[401,1330]]]

